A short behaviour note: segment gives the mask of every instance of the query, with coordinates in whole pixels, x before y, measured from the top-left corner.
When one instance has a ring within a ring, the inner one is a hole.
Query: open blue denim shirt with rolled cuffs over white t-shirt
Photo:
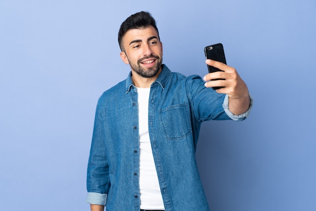
[[[212,119],[240,121],[249,111],[234,116],[226,95],[205,88],[197,75],[186,77],[163,65],[150,88],[148,130],[166,210],[209,210],[195,161],[200,125]],[[98,100],[86,202],[106,205],[107,211],[139,211],[138,173],[137,88],[130,73]]]

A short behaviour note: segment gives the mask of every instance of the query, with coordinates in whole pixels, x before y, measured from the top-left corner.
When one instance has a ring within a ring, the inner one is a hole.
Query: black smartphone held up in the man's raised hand
[[[212,59],[212,60],[226,64],[226,58],[225,58],[225,54],[224,54],[223,44],[218,43],[215,45],[206,46],[204,48],[204,53],[205,53],[206,59]],[[209,73],[223,71],[223,70],[220,70],[219,68],[209,66],[209,65],[207,65],[207,68],[208,68]],[[214,80],[223,80],[223,79],[219,78],[219,79],[214,79]],[[223,87],[213,87],[213,90],[218,90],[221,88],[223,88]]]

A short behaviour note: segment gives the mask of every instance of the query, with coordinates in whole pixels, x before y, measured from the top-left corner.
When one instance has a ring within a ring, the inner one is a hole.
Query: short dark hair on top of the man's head
[[[141,12],[135,13],[134,15],[131,15],[130,17],[128,17],[121,24],[121,27],[119,30],[119,38],[118,39],[119,39],[119,45],[120,45],[121,51],[123,51],[123,52],[125,51],[125,49],[123,47],[122,39],[128,30],[145,28],[147,26],[152,26],[154,29],[156,29],[156,31],[158,33],[158,38],[160,40],[158,28],[156,26],[156,21],[150,15],[150,13],[141,11]]]

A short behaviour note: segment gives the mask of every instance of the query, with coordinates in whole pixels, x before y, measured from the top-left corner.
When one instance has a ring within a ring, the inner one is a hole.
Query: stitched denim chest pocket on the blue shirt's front
[[[187,103],[166,107],[160,111],[160,121],[167,140],[180,140],[192,133]]]

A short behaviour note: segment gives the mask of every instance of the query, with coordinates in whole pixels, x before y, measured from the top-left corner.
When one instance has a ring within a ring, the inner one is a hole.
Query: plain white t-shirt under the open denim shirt
[[[165,209],[148,132],[150,88],[137,88],[139,119],[139,188],[141,209]]]

